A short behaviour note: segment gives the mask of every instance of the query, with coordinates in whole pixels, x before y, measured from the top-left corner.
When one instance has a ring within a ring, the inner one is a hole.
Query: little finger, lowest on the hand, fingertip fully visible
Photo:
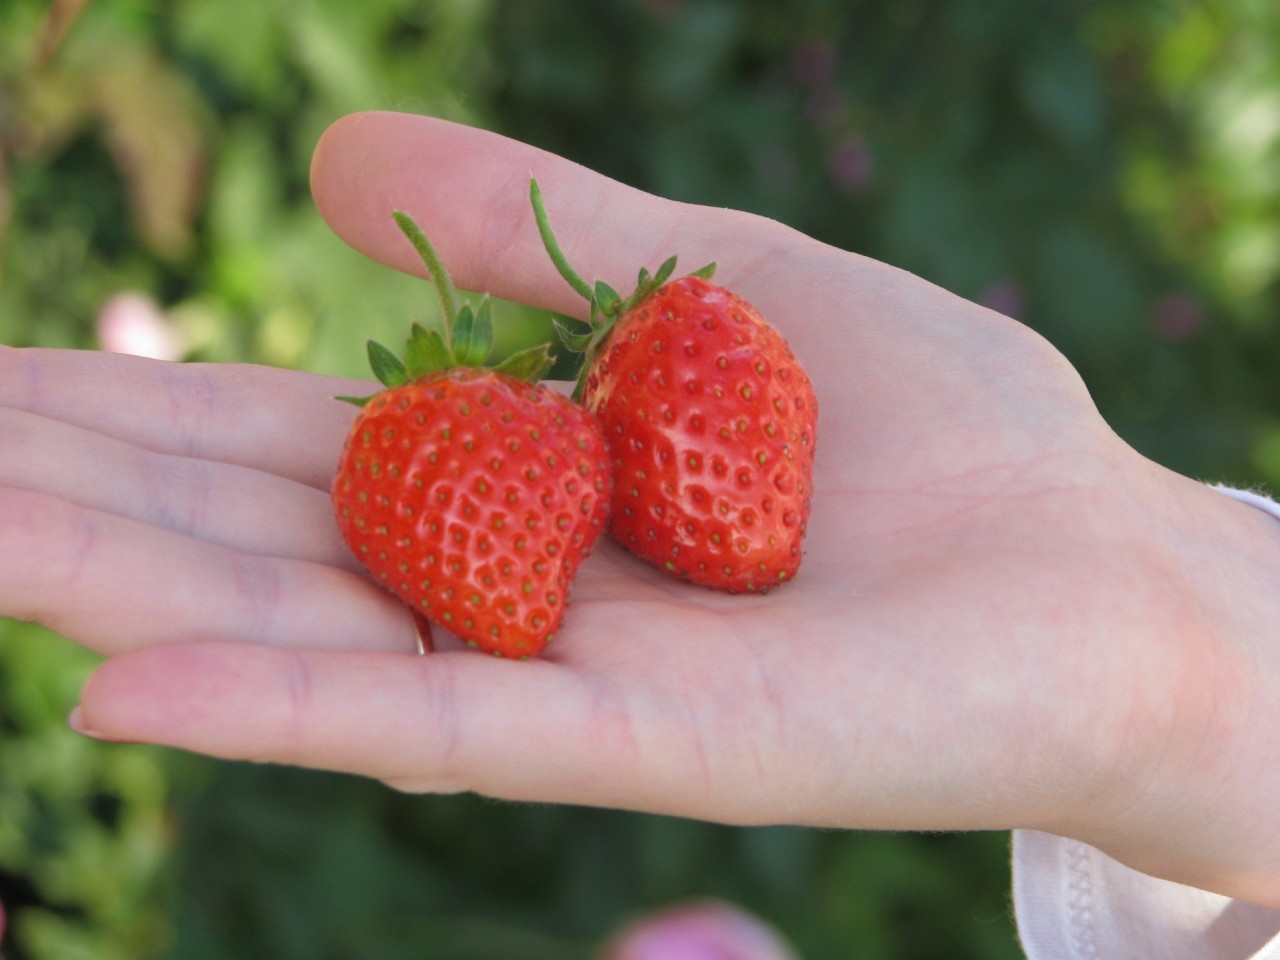
[[[525,790],[488,782],[494,774],[549,773],[538,768],[563,753],[554,740],[576,701],[545,662],[200,644],[106,662],[84,687],[78,722],[105,739],[500,796]]]

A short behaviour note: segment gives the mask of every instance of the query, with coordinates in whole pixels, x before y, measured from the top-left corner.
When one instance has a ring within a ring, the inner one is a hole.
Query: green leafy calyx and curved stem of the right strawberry
[[[614,324],[630,314],[639,303],[657,292],[675,275],[676,257],[667,257],[653,273],[650,273],[648,268],[641,266],[636,278],[635,289],[623,297],[604,280],[589,283],[577,270],[573,269],[572,264],[568,262],[568,259],[564,256],[564,251],[556,239],[554,230],[552,230],[550,218],[548,218],[547,206],[543,202],[541,188],[538,186],[538,180],[532,178],[529,180],[529,200],[534,207],[534,220],[538,223],[538,233],[543,239],[543,246],[547,248],[547,255],[556,265],[559,275],[564,278],[564,282],[581,294],[590,306],[590,312],[588,314],[588,329],[585,332],[576,332],[559,319],[554,319],[552,321],[556,326],[556,333],[564,347],[573,353],[581,353],[584,357],[581,371],[579,372],[577,383],[573,388],[573,399],[580,401],[582,398],[582,390],[586,385],[586,374],[591,369],[591,362],[603,348],[604,340],[613,330]],[[709,280],[714,273],[716,264],[710,262],[707,264],[707,266],[685,275],[699,276],[704,280]]]

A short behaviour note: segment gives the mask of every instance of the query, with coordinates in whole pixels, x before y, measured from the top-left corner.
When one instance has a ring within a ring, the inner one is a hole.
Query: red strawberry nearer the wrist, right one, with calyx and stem
[[[552,233],[561,275],[590,303],[575,398],[604,428],[613,462],[612,535],[669,573],[731,593],[796,575],[809,521],[818,402],[791,348],[759,311],[710,282],[714,264],[669,279],[676,259],[640,270],[623,298],[590,284]]]

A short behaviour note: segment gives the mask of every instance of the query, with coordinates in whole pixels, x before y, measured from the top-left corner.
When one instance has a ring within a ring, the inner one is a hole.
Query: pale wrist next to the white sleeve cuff
[[[1124,749],[1075,833],[1135,869],[1280,905],[1280,520],[1148,465],[1152,611]],[[1105,772],[1096,772],[1105,776]],[[1103,799],[1105,797],[1105,799]]]

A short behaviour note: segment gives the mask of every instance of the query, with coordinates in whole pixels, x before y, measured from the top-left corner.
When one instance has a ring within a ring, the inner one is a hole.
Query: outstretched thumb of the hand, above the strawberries
[[[582,316],[585,305],[543,250],[530,177],[568,260],[589,280],[630,291],[639,266],[653,269],[672,253],[686,270],[716,261],[717,280],[788,340],[827,402],[828,429],[842,435],[904,416],[904,406],[936,410],[934,398],[919,397],[925,378],[955,394],[998,381],[1006,371],[993,338],[1025,333],[916,276],[781,224],[663,200],[434,118],[366,113],[338,120],[316,147],[311,188],[334,232],[375,260],[422,273],[392,219],[403,209],[421,220],[462,288]]]

